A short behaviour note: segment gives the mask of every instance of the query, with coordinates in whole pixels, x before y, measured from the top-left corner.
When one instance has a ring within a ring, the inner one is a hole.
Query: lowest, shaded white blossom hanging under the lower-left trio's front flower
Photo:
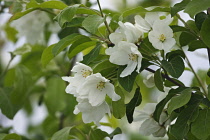
[[[100,125],[99,121],[106,113],[110,114],[110,109],[106,102],[103,102],[99,106],[92,106],[88,100],[82,100],[75,106],[74,114],[78,114],[79,112],[82,112],[84,123],[94,122],[96,125]]]

